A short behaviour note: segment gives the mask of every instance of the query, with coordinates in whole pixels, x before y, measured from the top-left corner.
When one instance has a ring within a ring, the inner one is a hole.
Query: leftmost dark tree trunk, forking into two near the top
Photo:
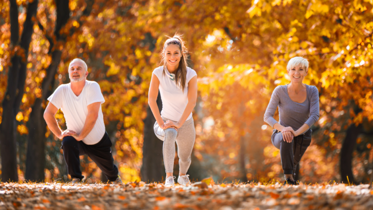
[[[38,1],[34,0],[27,6],[26,19],[23,24],[21,42],[17,51],[19,53],[11,58],[11,66],[8,71],[8,86],[3,101],[2,124],[0,125],[0,146],[2,156],[2,180],[18,181],[17,173],[17,148],[16,148],[16,115],[23,96],[23,88],[26,79],[26,63],[28,48],[33,33],[32,17],[36,14]],[[18,6],[15,0],[10,1],[11,44],[16,48],[19,43]],[[16,50],[16,49],[15,49]]]

